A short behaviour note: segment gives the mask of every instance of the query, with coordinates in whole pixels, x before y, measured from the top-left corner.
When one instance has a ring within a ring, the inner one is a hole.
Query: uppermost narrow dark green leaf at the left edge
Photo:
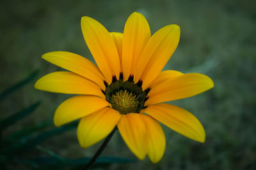
[[[4,97],[8,96],[12,92],[15,92],[16,90],[19,90],[21,87],[24,85],[28,84],[30,81],[32,81],[35,76],[39,73],[39,69],[36,69],[36,71],[33,71],[28,77],[26,77],[24,80],[19,81],[15,85],[12,85],[8,89],[4,90],[3,92],[0,93],[0,101],[4,99]]]

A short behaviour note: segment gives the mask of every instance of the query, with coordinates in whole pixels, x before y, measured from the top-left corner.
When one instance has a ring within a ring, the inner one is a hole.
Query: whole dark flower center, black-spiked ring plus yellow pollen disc
[[[119,80],[116,80],[116,77],[113,76],[110,85],[106,82],[104,84],[106,85],[104,91],[106,100],[113,109],[121,114],[140,113],[143,110],[150,89],[142,90],[142,81],[134,83],[133,76],[129,76],[129,79],[124,82],[123,75],[120,73]]]

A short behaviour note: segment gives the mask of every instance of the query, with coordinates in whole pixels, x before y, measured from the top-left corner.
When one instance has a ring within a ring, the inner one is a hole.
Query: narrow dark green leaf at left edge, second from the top
[[[28,116],[30,113],[33,113],[33,111],[39,106],[40,101],[31,104],[28,108],[25,108],[22,111],[19,111],[17,113],[14,113],[8,118],[5,118],[4,120],[1,120],[0,124],[0,131],[3,131],[6,127],[15,124],[15,122],[19,121],[20,119]]]

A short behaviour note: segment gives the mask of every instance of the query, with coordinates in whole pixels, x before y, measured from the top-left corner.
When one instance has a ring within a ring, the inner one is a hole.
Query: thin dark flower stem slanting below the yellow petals
[[[107,136],[107,138],[105,139],[105,141],[102,143],[102,145],[100,146],[99,150],[97,150],[97,152],[95,153],[95,155],[92,157],[92,159],[90,160],[90,162],[88,162],[88,164],[86,164],[86,166],[84,166],[83,170],[89,169],[93,163],[95,162],[95,160],[97,160],[97,158],[99,157],[100,153],[102,153],[102,151],[104,150],[104,148],[108,145],[108,142],[110,141],[110,139],[112,138],[113,134],[116,131],[116,127],[113,129],[113,131]]]

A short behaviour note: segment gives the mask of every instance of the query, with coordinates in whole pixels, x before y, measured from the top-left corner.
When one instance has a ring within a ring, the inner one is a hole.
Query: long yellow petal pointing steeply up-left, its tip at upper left
[[[81,29],[84,40],[107,83],[111,83],[113,76],[119,80],[120,61],[111,34],[97,20],[90,17],[81,18]]]

